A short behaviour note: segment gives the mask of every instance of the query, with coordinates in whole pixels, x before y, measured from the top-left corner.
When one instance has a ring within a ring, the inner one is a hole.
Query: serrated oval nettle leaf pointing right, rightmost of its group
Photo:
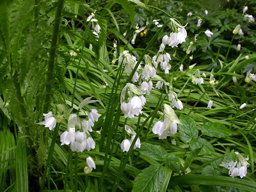
[[[227,127],[221,123],[207,122],[202,127],[202,134],[210,137],[223,138],[230,136],[232,134],[232,131],[227,129]]]

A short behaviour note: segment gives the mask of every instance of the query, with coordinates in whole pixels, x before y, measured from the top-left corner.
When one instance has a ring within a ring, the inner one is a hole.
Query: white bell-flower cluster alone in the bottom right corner
[[[220,166],[223,166],[229,170],[228,175],[230,177],[239,176],[242,179],[243,177],[246,177],[247,164],[249,164],[247,161],[249,160],[249,158],[244,158],[243,156],[241,156],[241,154],[239,154],[239,152],[235,152],[235,154],[239,159],[238,163],[237,161],[227,160],[226,162],[222,162]]]

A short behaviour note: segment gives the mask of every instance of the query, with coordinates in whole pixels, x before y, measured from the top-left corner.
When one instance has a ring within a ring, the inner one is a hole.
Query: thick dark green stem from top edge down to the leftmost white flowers
[[[55,22],[54,22],[54,29],[52,31],[52,41],[51,41],[51,48],[49,51],[49,62],[48,62],[48,68],[46,72],[46,87],[45,87],[45,100],[44,100],[44,112],[47,113],[49,104],[51,101],[51,88],[52,84],[54,83],[54,60],[55,60],[55,54],[57,49],[57,40],[58,40],[58,34],[59,34],[59,27],[60,27],[60,20],[61,20],[61,12],[63,8],[64,0],[58,1],[58,6],[56,10],[55,15]]]

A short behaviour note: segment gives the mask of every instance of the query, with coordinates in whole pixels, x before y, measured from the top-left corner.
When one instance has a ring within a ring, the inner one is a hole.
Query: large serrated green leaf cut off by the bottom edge
[[[163,166],[161,164],[152,164],[135,178],[132,192],[159,191],[163,186],[163,180]]]

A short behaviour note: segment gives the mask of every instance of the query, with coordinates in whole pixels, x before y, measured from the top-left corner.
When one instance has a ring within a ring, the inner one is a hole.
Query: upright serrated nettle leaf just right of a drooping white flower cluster
[[[196,122],[189,116],[180,115],[179,133],[180,139],[186,143],[192,139],[197,138],[198,129],[196,128]]]

